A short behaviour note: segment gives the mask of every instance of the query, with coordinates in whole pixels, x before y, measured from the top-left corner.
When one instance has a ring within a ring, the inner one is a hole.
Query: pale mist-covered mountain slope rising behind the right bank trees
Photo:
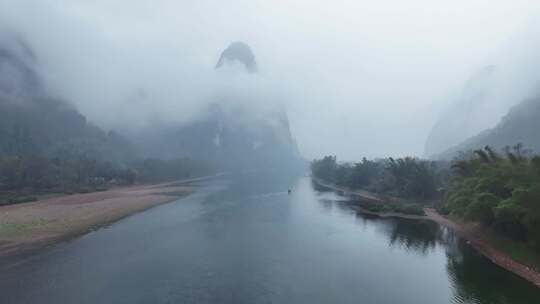
[[[487,66],[469,79],[461,97],[431,130],[426,156],[452,159],[460,152],[485,146],[500,151],[516,144],[540,152],[540,138],[535,134],[540,129],[540,100],[535,89],[539,77],[530,71],[537,59],[518,59],[519,64],[510,67]]]

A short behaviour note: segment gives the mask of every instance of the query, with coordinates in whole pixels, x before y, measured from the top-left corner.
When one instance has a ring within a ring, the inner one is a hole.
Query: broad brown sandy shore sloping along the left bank
[[[185,182],[185,181],[184,181]],[[121,187],[0,207],[0,258],[29,253],[186,196],[179,182]]]

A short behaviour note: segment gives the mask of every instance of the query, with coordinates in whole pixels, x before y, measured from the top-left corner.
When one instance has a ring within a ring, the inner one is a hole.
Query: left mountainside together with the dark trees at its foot
[[[129,139],[51,96],[37,65],[17,36],[0,36],[0,204],[41,192],[86,192],[214,171],[187,158],[143,159]]]

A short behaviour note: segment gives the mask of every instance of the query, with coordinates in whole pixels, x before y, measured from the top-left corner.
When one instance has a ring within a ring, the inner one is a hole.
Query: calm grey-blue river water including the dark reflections
[[[0,303],[540,303],[540,289],[451,231],[359,214],[309,178],[195,186],[187,198],[2,261]]]

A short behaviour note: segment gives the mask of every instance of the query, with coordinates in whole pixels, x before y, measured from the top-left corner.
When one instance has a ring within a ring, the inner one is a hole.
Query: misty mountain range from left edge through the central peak
[[[239,62],[244,74],[257,71],[249,46],[232,43],[216,69]],[[120,136],[88,122],[71,103],[47,93],[36,72],[36,55],[15,36],[0,40],[0,153],[87,158],[121,163],[136,158],[191,158],[227,170],[283,167],[300,163],[284,107],[262,94],[217,91],[193,119],[158,122]],[[235,77],[227,72],[223,77]],[[244,77],[244,76],[242,76]],[[241,83],[244,78],[240,79]],[[216,88],[209,87],[209,91]]]

